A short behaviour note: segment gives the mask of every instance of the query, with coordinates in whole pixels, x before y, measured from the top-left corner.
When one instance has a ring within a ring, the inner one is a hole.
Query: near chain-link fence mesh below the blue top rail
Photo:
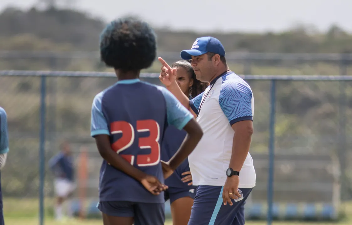
[[[45,93],[40,91],[41,76],[46,77]],[[161,85],[157,76],[144,73],[142,79]],[[253,90],[255,102],[250,152],[257,186],[248,201],[247,216],[265,217],[271,191],[270,159],[274,162],[274,217],[287,214],[290,204],[296,204],[297,214],[302,215],[310,204],[316,212],[330,205],[329,213],[337,216],[341,201],[352,200],[352,165],[348,163],[352,161],[352,141],[348,138],[352,134],[352,77],[243,77]],[[10,133],[10,153],[1,171],[6,216],[37,216],[42,200],[45,216],[52,216],[54,179],[47,163],[58,153],[63,139],[74,152],[77,179],[81,176],[82,149],[87,151],[84,199],[87,212],[96,212],[102,159],[90,138],[90,110],[94,96],[116,80],[111,73],[0,71],[0,106],[7,112]],[[273,84],[275,95],[271,94]],[[46,104],[44,155],[39,155],[41,95]],[[270,121],[273,99],[275,121]],[[270,123],[275,125],[275,156],[268,154]],[[38,197],[41,159],[45,161],[43,199]],[[78,185],[75,199],[82,190]]]

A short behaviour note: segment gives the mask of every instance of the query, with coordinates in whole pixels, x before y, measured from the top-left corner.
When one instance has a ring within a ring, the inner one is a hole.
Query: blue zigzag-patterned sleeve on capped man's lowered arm
[[[242,120],[253,120],[253,93],[242,82],[226,81],[221,85],[219,104],[230,125]]]

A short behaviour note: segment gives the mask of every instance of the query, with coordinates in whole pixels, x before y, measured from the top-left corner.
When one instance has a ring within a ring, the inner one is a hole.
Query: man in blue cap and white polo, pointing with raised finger
[[[175,81],[176,69],[159,57],[159,79],[203,129],[202,139],[188,157],[193,185],[198,186],[188,225],[242,225],[245,201],[256,185],[249,153],[252,90],[228,68],[225,49],[216,38],[197,38],[191,49],[181,52],[181,58],[191,59],[197,79],[210,84],[189,100]]]

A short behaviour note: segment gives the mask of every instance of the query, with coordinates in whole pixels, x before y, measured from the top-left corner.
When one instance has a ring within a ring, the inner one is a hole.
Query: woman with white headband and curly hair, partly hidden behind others
[[[177,69],[176,82],[182,92],[190,99],[202,93],[208,86],[207,83],[196,79],[194,70],[188,61],[177,61],[171,67]],[[174,126],[166,128],[161,154],[162,160],[168,161],[177,152],[186,134],[185,131],[180,131]],[[187,225],[188,223],[196,194],[196,186],[191,185],[191,181],[192,176],[189,171],[188,158],[165,180],[165,185],[169,187],[164,192],[165,201],[170,199],[173,225]]]

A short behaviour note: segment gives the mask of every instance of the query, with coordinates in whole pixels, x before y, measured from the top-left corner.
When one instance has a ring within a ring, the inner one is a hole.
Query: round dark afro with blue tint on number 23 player
[[[108,67],[139,71],[156,57],[156,34],[149,24],[134,17],[112,21],[100,35],[100,58]]]

